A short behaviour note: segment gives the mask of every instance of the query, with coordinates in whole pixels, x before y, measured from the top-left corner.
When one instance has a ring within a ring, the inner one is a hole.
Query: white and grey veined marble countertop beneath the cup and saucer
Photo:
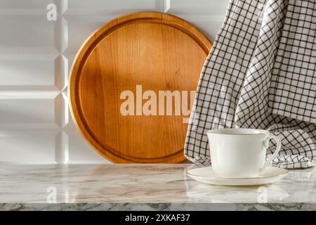
[[[275,184],[237,187],[199,183],[185,175],[190,167],[190,164],[0,165],[0,209],[50,203],[108,204],[107,207],[135,203],[251,203],[251,207],[265,203],[275,204],[268,207],[276,204],[302,207],[302,203],[316,203],[315,168],[291,170]]]

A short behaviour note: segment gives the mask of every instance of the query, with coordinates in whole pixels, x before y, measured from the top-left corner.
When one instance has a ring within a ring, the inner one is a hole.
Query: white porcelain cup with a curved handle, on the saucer
[[[212,129],[207,136],[213,172],[225,178],[263,174],[281,148],[280,139],[263,129]],[[265,160],[270,139],[277,141],[277,149]]]

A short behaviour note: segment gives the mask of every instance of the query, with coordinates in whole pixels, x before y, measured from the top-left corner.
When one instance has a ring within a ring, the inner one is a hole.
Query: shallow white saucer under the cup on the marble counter
[[[211,167],[198,167],[187,170],[187,176],[196,181],[206,184],[229,185],[229,186],[251,186],[271,184],[279,181],[289,173],[287,169],[268,167],[263,174],[251,178],[223,178],[213,172]]]

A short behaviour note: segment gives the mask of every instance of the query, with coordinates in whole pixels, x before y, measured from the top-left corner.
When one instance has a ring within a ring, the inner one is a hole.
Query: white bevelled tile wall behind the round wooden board
[[[107,163],[74,126],[67,82],[82,42],[117,15],[163,11],[213,41],[229,0],[0,0],[0,162]],[[58,8],[48,21],[48,4]]]

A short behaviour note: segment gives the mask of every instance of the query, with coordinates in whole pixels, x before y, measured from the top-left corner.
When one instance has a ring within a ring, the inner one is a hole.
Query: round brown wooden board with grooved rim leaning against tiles
[[[170,101],[164,98],[164,109],[159,91],[179,91],[183,102],[185,91],[196,90],[210,49],[202,32],[165,13],[105,23],[81,46],[70,72],[70,111],[79,131],[112,162],[183,162],[189,116],[175,113],[176,98],[166,115]]]

